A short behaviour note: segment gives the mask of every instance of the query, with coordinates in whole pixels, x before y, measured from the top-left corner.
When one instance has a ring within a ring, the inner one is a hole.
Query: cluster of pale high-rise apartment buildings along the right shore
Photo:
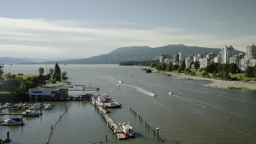
[[[238,69],[245,71],[248,66],[253,67],[256,64],[256,46],[249,45],[246,46],[246,56],[243,53],[234,55],[234,47],[232,45],[227,45],[223,47],[218,55],[214,53],[201,52],[197,55],[190,55],[185,57],[184,52],[176,53],[173,58],[169,55],[161,55],[159,57],[160,63],[168,63],[172,61],[173,64],[181,63],[185,59],[186,68],[193,69],[194,62],[199,61],[200,68],[206,68],[207,65],[214,63],[219,64],[231,64],[235,63]]]

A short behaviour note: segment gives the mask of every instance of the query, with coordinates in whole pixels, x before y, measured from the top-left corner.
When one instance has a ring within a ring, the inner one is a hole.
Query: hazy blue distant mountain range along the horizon
[[[220,52],[220,49],[213,49],[199,46],[185,46],[179,45],[166,45],[161,47],[149,47],[149,46],[131,46],[120,47],[113,50],[110,53],[93,56],[83,59],[69,59],[65,61],[49,61],[49,64],[118,64],[125,61],[152,61],[159,59],[160,55],[173,55],[178,52],[184,52],[185,56],[195,55],[197,53],[216,53]],[[234,51],[235,54],[245,53],[242,51]],[[46,62],[46,61],[45,61]],[[45,62],[20,62],[18,64],[45,64]],[[1,60],[0,60],[1,63]]]

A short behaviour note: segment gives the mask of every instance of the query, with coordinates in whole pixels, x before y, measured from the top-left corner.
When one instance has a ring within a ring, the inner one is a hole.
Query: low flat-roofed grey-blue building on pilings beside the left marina
[[[28,95],[34,99],[60,99],[68,97],[68,88],[30,88]]]

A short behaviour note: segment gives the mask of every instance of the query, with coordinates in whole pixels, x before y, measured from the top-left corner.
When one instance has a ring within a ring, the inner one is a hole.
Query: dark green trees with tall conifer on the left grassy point
[[[40,75],[43,75],[44,74],[44,68],[39,68],[38,73]],[[60,81],[61,79],[62,80],[67,80],[68,79],[67,72],[63,71],[61,73],[61,69],[60,69],[58,63],[55,64],[54,69],[53,68],[49,69],[49,74],[47,74],[47,75],[48,75],[48,77],[50,76],[53,80],[56,80],[56,81]]]

